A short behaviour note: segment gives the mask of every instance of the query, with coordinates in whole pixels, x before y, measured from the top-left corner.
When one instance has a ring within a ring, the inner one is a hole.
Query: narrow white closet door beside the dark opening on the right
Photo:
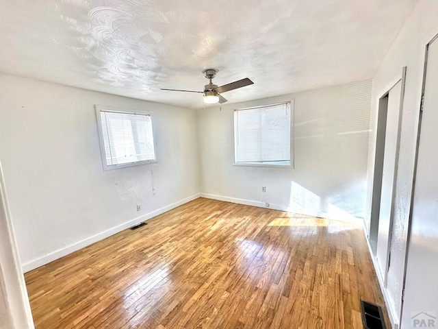
[[[383,158],[383,178],[381,208],[378,219],[377,262],[381,276],[386,284],[389,261],[389,241],[391,239],[391,220],[394,217],[394,182],[398,162],[398,141],[400,137],[400,101],[402,98],[400,80],[388,94],[388,113]]]

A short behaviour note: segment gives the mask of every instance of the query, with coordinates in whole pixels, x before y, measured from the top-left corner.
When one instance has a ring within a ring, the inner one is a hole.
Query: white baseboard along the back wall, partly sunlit
[[[235,197],[225,197],[223,195],[214,195],[214,194],[209,194],[209,193],[201,193],[201,197],[205,197],[207,199],[215,199],[215,200],[220,200],[220,201],[232,202],[233,204],[245,204],[247,206],[255,206],[255,207],[260,207],[260,208],[268,208],[268,209],[287,211],[287,212],[295,212],[296,214],[300,214],[300,215],[322,217],[322,218],[333,219],[333,220],[337,220],[337,221],[347,221],[347,222],[351,222],[351,223],[360,223],[361,221],[363,222],[363,219],[360,219],[358,217],[354,217],[351,215],[333,214],[330,212],[309,210],[309,209],[305,209],[305,208],[295,208],[295,207],[291,207],[291,206],[284,206],[282,204],[269,204],[269,206],[266,206],[265,202],[253,201],[253,200],[248,200],[248,199],[238,199]]]

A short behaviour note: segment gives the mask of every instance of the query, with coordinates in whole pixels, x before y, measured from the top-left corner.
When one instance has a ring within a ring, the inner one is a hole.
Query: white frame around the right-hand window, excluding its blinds
[[[233,166],[236,167],[263,167],[263,168],[282,168],[282,169],[294,169],[294,101],[295,99],[290,99],[287,101],[279,101],[278,103],[261,104],[256,106],[250,106],[248,108],[234,108],[233,109]],[[236,148],[236,116],[235,112],[242,110],[254,110],[256,108],[267,108],[268,106],[276,106],[282,104],[289,104],[290,108],[290,160],[289,164],[264,164],[259,162],[237,162],[237,148]]]

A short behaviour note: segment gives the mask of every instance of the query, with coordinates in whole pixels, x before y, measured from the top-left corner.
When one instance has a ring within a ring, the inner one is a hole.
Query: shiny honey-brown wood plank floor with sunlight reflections
[[[361,226],[203,198],[147,223],[26,273],[36,328],[363,328],[359,300],[384,306]]]

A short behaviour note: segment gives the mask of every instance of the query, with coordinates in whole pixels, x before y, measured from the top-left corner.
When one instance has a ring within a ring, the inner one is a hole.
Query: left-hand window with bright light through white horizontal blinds
[[[151,113],[96,106],[103,169],[155,162]]]

